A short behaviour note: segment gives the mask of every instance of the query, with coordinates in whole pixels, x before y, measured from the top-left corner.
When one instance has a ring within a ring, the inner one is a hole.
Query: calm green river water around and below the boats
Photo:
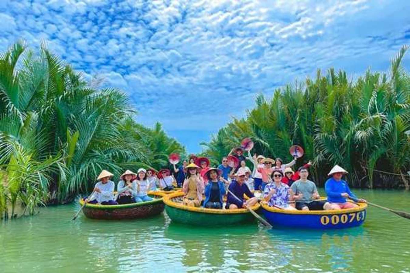
[[[355,193],[410,212],[409,192]],[[71,221],[78,208],[1,223],[0,272],[410,272],[410,220],[372,207],[363,226],[332,231]]]

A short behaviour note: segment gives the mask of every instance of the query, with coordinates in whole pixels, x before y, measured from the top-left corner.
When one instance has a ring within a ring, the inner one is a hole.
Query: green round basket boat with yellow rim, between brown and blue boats
[[[236,223],[252,223],[254,216],[247,209],[221,210],[208,208],[188,207],[182,204],[183,192],[175,192],[164,196],[165,211],[168,217],[175,222],[198,226],[220,226]],[[260,208],[256,203],[252,210]]]

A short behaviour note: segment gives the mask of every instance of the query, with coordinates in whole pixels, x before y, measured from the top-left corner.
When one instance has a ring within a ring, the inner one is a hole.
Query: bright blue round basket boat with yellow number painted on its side
[[[346,210],[281,210],[261,202],[262,212],[272,226],[290,228],[337,229],[360,226],[366,219],[366,203]]]

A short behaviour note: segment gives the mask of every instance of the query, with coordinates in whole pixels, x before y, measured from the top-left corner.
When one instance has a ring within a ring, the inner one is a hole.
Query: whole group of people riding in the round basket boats
[[[254,195],[258,191],[269,206],[283,210],[341,210],[358,207],[347,199],[366,202],[351,192],[342,179],[347,171],[338,165],[328,173],[327,199],[321,199],[315,183],[308,180],[311,162],[293,171],[296,156],[284,164],[281,158],[244,153],[242,147],[232,149],[216,168],[210,166],[208,158],[191,155],[180,167],[173,163],[174,174],[169,169],[157,172],[141,168],[137,173],[127,170],[120,176],[116,191],[110,180],[113,174],[103,170],[93,194],[85,201],[101,205],[138,203],[152,200],[149,191],[182,190],[182,203],[186,206],[226,210],[253,206],[259,201]],[[252,162],[253,170],[246,166],[246,160]],[[244,199],[244,195],[248,198]]]

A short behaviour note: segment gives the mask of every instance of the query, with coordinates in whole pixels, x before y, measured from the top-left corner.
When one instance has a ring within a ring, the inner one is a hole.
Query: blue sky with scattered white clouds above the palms
[[[0,50],[46,41],[198,152],[257,93],[317,68],[387,70],[410,41],[409,12],[408,0],[0,0]]]

